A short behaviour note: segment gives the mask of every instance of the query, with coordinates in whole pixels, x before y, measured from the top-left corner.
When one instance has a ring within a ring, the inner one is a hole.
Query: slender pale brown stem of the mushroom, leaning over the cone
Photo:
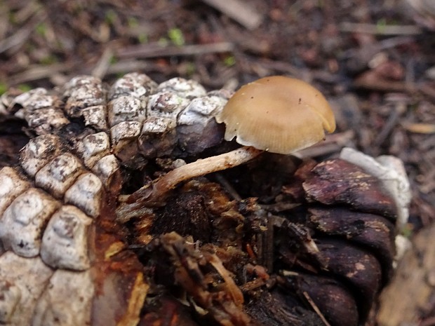
[[[127,202],[140,202],[146,206],[163,205],[166,194],[180,182],[194,177],[201,177],[201,175],[207,175],[211,172],[233,168],[252,160],[261,153],[260,149],[245,146],[228,153],[182,165],[180,168],[166,173],[163,177],[159,177],[151,184],[142,186],[128,197]]]

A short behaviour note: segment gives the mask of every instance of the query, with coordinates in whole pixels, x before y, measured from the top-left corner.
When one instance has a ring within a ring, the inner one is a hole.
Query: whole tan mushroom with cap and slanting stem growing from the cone
[[[215,117],[225,123],[225,140],[243,145],[225,154],[183,165],[143,186],[128,203],[161,205],[180,182],[246,163],[262,151],[291,154],[333,133],[335,118],[323,95],[304,81],[269,76],[242,86]]]

